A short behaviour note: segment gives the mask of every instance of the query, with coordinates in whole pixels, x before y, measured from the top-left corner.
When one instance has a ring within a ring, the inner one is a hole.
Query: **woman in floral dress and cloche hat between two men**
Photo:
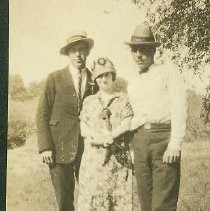
[[[132,164],[126,132],[132,109],[127,95],[114,91],[116,71],[110,60],[95,61],[92,78],[99,91],[84,100],[80,114],[85,149],[78,211],[131,211]]]

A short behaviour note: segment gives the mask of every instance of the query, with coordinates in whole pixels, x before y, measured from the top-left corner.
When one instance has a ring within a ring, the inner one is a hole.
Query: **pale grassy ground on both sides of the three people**
[[[210,142],[184,143],[178,211],[210,210]],[[55,211],[50,175],[37,153],[36,136],[8,150],[8,211]]]

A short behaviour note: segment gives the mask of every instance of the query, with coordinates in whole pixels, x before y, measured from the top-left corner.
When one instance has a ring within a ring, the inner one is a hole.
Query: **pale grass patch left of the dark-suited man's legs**
[[[46,165],[37,153],[36,136],[20,148],[8,150],[7,210],[56,210],[56,199]]]

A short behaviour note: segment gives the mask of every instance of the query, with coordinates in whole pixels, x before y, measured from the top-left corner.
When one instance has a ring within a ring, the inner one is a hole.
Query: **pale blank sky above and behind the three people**
[[[124,42],[146,16],[129,0],[11,0],[9,11],[9,71],[22,75],[26,85],[68,64],[59,50],[76,29],[87,31],[95,41],[88,67],[104,56],[112,60],[119,76],[133,73]],[[199,78],[187,77],[192,86],[204,87]]]

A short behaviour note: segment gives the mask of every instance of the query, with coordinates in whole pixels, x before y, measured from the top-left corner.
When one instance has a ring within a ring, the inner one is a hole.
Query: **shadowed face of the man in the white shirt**
[[[152,46],[132,45],[131,55],[140,72],[146,72],[154,62],[155,48]]]

